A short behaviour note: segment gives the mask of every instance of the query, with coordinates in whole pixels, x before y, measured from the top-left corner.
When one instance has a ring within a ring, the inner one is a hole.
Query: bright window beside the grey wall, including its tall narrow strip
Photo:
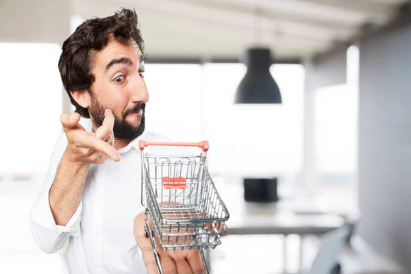
[[[347,83],[314,93],[314,190],[329,209],[347,214],[358,208],[359,51],[347,51]]]

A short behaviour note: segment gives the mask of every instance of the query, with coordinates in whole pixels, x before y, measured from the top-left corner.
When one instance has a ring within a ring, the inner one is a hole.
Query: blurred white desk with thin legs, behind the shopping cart
[[[321,235],[345,223],[336,214],[322,208],[314,197],[301,194],[298,190],[281,191],[276,203],[249,203],[244,201],[242,184],[227,183],[221,178],[213,178],[227,210],[227,235],[256,234],[308,234]],[[223,239],[224,244],[224,239]],[[286,240],[284,240],[284,269],[286,269]],[[303,249],[300,245],[300,266]]]

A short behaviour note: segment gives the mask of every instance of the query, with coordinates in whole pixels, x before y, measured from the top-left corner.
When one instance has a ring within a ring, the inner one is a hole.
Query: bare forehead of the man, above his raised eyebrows
[[[107,64],[113,59],[127,57],[138,66],[141,58],[141,51],[136,41],[130,39],[126,43],[119,42],[115,38],[110,36],[107,45],[101,51],[94,51],[92,53],[95,63],[94,69],[101,69],[101,67],[107,66]]]

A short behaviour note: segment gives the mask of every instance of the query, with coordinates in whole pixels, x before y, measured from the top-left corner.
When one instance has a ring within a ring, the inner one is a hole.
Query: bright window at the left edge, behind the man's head
[[[0,174],[47,171],[61,132],[60,52],[55,44],[0,43]]]

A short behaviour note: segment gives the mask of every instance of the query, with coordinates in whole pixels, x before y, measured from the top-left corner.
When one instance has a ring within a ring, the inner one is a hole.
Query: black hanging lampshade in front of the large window
[[[281,93],[270,73],[270,50],[247,50],[247,73],[238,85],[235,103],[282,103]]]

